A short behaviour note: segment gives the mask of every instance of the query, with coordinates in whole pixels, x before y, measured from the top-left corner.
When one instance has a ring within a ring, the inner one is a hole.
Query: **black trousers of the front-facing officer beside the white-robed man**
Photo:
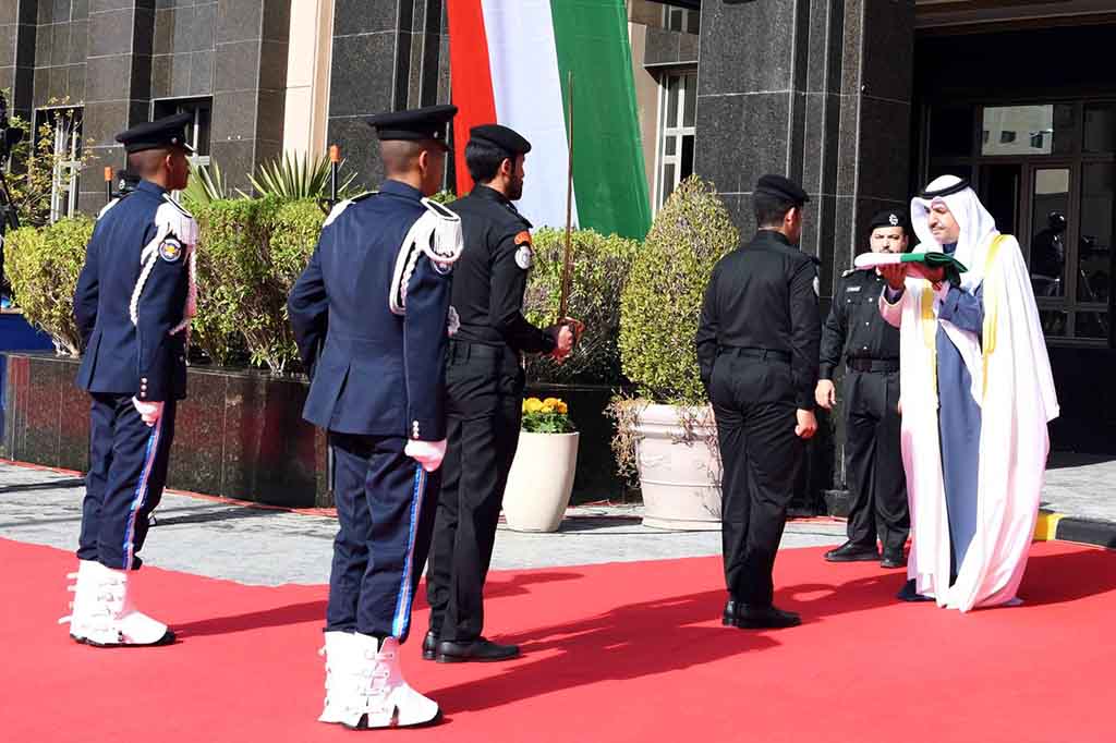
[[[902,552],[911,532],[906,475],[899,440],[899,373],[848,369],[844,382],[848,413],[845,471],[853,505],[848,541],[885,552]]]

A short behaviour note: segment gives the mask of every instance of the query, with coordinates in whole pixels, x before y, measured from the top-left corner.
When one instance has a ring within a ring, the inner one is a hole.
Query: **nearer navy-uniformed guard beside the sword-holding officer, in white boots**
[[[426,562],[445,454],[445,348],[461,223],[430,201],[454,106],[381,114],[386,180],[330,212],[288,300],[310,376],[304,417],[335,454],[334,540],[320,722],[437,721],[403,678],[400,646]]]

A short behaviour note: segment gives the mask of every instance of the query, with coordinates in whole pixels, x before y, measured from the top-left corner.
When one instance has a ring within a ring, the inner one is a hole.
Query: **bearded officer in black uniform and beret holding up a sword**
[[[496,124],[474,127],[465,147],[473,191],[450,209],[461,215],[465,251],[454,271],[461,326],[450,342],[450,444],[426,573],[431,606],[423,657],[441,663],[502,660],[519,648],[481,635],[482,592],[500,502],[519,441],[522,354],[564,358],[570,326],[540,329],[522,315],[531,268],[531,224],[516,211],[527,139]],[[540,473],[540,476],[546,476]]]

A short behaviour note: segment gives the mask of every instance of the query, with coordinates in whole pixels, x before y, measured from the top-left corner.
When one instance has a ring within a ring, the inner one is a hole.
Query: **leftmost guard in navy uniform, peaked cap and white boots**
[[[163,495],[175,405],[186,396],[198,224],[171,192],[190,176],[189,120],[172,116],[116,135],[142,181],[102,213],[74,296],[85,349],[77,385],[93,402],[77,583],[62,621],[89,645],[174,641],[166,625],[134,608],[131,572]]]

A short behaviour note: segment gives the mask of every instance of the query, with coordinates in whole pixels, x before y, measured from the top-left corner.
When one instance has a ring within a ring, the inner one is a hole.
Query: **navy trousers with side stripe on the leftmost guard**
[[[162,417],[148,426],[132,395],[92,395],[89,472],[77,557],[114,570],[135,570],[142,565],[147,517],[163,498],[176,405],[167,401]]]

